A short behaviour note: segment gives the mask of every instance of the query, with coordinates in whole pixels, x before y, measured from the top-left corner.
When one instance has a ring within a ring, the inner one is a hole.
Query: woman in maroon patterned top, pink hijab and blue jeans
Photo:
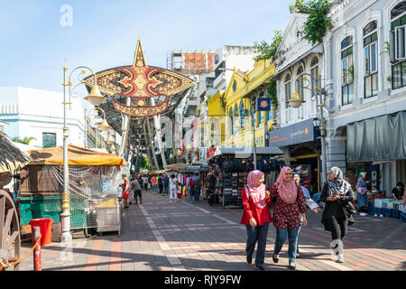
[[[276,198],[273,210],[273,226],[276,228],[275,247],[272,260],[279,262],[279,253],[286,241],[289,240],[289,267],[296,269],[296,250],[300,227],[300,214],[303,226],[308,224],[306,219],[306,201],[300,186],[293,181],[289,166],[281,169],[278,179],[271,188],[271,198]]]

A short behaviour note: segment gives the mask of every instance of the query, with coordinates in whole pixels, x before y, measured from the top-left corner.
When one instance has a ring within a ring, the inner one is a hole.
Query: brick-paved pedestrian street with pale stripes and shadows
[[[42,247],[43,270],[253,270],[245,263],[245,226],[242,210],[198,203],[169,202],[167,197],[143,192],[143,205],[124,211],[122,235],[105,233],[96,238],[74,239],[71,253],[60,243]],[[330,233],[309,210],[309,225],[302,228],[302,257],[297,270],[359,271],[406,270],[406,223],[399,219],[355,216],[345,240],[346,262],[331,261]],[[280,262],[272,262],[275,228],[270,226],[265,269],[289,270],[287,249]],[[24,255],[31,244],[23,243]],[[255,253],[254,253],[255,254]],[[22,255],[22,256],[23,256]],[[254,263],[254,262],[253,262]],[[32,256],[20,270],[32,270]]]

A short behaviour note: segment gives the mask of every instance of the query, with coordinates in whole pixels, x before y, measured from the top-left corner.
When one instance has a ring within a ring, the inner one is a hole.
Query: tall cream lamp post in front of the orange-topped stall
[[[62,224],[62,232],[60,235],[60,242],[62,243],[69,243],[72,241],[72,235],[70,234],[70,209],[69,209],[69,167],[68,167],[68,137],[69,137],[69,127],[67,126],[67,105],[70,105],[70,98],[72,95],[72,92],[74,89],[78,87],[78,85],[82,84],[83,81],[80,81],[73,89],[71,89],[72,86],[72,81],[71,81],[71,76],[72,73],[76,70],[79,69],[86,69],[90,70],[91,73],[95,76],[95,87],[90,91],[90,94],[88,95],[89,99],[92,99],[93,102],[97,103],[100,101],[100,103],[103,100],[106,100],[105,97],[103,97],[100,93],[100,91],[97,88],[97,83],[96,83],[96,74],[93,70],[88,68],[87,66],[79,66],[76,69],[72,70],[69,74],[69,79],[67,82],[67,71],[68,68],[66,67],[66,61],[65,65],[63,67],[63,194],[62,194],[62,213],[60,214],[60,220]],[[85,71],[82,70],[80,74],[85,74]],[[67,87],[69,87],[69,101],[67,101]],[[96,88],[96,89],[95,89]],[[100,104],[98,103],[98,104]],[[86,113],[86,112],[85,112]]]

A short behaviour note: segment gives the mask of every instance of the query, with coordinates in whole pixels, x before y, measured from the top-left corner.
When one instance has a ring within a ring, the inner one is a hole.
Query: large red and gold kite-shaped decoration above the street
[[[146,65],[141,39],[137,42],[133,65],[97,72],[96,79],[98,88],[111,97],[115,109],[131,117],[152,117],[163,113],[172,95],[194,84],[179,73]],[[84,82],[92,88],[94,76]],[[126,106],[115,96],[134,98],[135,106]],[[163,101],[156,106],[147,106],[148,98],[161,96],[165,97]]]

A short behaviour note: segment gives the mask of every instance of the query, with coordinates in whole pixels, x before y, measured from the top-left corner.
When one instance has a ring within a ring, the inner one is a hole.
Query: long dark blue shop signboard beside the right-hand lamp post
[[[269,145],[286,146],[314,141],[318,134],[313,125],[313,120],[314,118],[309,118],[291,126],[272,130],[269,133]]]

